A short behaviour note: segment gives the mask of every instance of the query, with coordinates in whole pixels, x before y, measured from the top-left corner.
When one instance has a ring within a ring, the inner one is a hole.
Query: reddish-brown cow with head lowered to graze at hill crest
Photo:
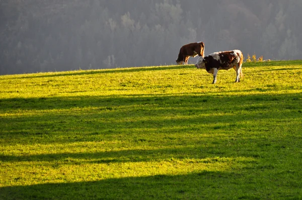
[[[178,58],[176,60],[176,63],[178,65],[182,65],[183,62],[185,65],[188,64],[189,57],[195,57],[195,56],[204,56],[204,43],[203,42],[194,42],[190,44],[186,44],[182,46],[179,50]]]

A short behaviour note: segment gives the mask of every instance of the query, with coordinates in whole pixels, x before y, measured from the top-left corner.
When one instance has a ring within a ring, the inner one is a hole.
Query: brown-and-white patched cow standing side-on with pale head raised
[[[213,84],[216,83],[217,72],[220,69],[229,70],[234,68],[236,71],[235,82],[240,81],[242,75],[243,54],[240,50],[215,52],[208,56],[199,57],[195,67],[205,69],[208,73],[213,74]]]

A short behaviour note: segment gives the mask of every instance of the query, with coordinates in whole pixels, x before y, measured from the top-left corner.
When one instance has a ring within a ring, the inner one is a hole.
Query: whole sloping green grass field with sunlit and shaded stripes
[[[302,61],[0,76],[0,199],[301,199]]]

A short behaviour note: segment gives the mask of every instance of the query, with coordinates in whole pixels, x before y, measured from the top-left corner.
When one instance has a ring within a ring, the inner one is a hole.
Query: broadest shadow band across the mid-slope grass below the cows
[[[2,99],[1,112],[7,116],[1,117],[0,139],[7,144],[117,139],[156,143],[161,139],[166,141],[164,136],[197,134],[200,130],[208,134],[269,132],[276,124],[300,126],[301,100],[301,93]],[[182,144],[186,139],[171,142]]]

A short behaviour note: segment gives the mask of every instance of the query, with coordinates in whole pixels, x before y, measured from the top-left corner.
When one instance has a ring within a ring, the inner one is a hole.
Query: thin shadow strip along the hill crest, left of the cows
[[[128,73],[137,71],[153,71],[153,70],[167,70],[167,69],[181,69],[184,67],[192,67],[193,65],[168,65],[168,66],[155,66],[155,67],[131,67],[131,68],[118,68],[118,69],[96,69],[96,70],[79,70],[74,72],[57,72],[55,74],[46,75],[28,75],[22,77],[12,77],[8,79],[23,79],[23,78],[43,78],[43,77],[56,77],[56,76],[75,76],[75,75],[89,75],[89,74],[103,74],[103,73]],[[51,72],[49,72],[51,73]]]

